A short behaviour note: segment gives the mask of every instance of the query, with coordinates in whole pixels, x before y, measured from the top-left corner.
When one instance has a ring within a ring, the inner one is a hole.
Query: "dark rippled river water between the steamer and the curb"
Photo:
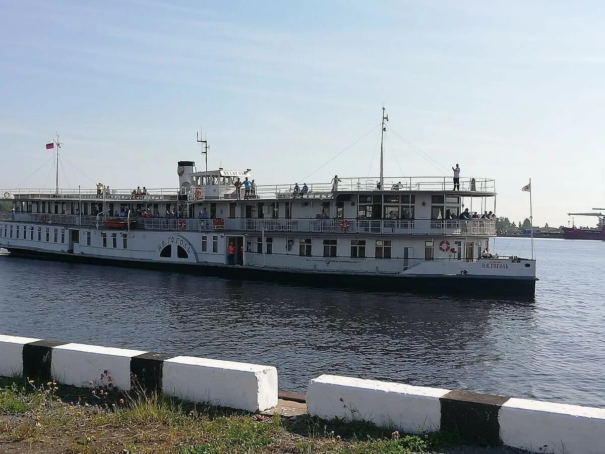
[[[605,407],[605,243],[536,239],[535,302],[0,257],[0,332]],[[529,239],[499,238],[529,256]]]

